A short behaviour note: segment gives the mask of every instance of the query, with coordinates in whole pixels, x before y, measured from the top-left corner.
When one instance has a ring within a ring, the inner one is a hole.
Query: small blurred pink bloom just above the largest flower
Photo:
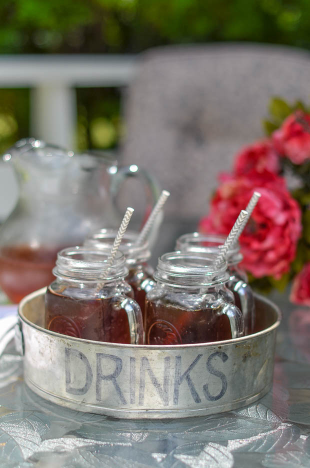
[[[278,173],[279,156],[274,151],[270,140],[256,141],[249,146],[245,146],[236,155],[234,161],[234,172],[236,174],[246,174],[252,169],[257,172],[263,172],[266,169]]]

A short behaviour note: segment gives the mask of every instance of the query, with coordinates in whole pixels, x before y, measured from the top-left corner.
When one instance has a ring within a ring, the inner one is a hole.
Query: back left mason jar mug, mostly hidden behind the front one
[[[115,229],[101,229],[92,234],[84,242],[85,246],[96,249],[108,248],[112,245],[116,236]],[[144,316],[145,295],[154,285],[153,268],[147,263],[150,257],[148,242],[136,245],[138,232],[126,231],[119,249],[125,256],[128,274],[126,281],[133,289],[134,299],[139,304],[142,316]]]

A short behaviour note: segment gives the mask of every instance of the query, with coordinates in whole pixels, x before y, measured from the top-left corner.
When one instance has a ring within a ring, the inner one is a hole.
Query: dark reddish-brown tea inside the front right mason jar
[[[222,307],[182,309],[146,299],[146,344],[189,344],[230,339],[231,326]]]

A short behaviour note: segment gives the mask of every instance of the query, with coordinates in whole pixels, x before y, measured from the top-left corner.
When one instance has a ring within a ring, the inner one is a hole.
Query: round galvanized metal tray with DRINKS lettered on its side
[[[43,328],[45,288],[19,304],[24,380],[68,408],[122,418],[214,414],[252,403],[272,383],[278,308],[255,295],[255,333],[204,344],[114,344]]]

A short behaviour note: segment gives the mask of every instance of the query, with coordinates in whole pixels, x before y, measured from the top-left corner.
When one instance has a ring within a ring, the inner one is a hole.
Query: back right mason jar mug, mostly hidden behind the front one
[[[176,240],[175,248],[181,251],[200,253],[219,253],[225,237],[215,234],[191,232],[183,234]],[[233,292],[234,302],[241,309],[244,319],[244,333],[253,332],[255,323],[255,305],[253,292],[248,284],[246,272],[239,266],[242,260],[238,242],[232,245],[227,253],[229,278],[227,287]]]

